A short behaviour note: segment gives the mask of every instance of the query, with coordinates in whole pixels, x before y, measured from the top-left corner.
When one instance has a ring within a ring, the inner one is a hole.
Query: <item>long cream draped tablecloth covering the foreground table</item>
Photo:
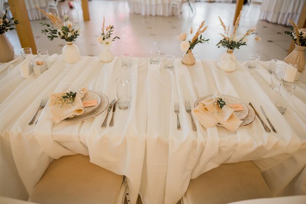
[[[274,195],[306,194],[305,71],[282,115],[269,97],[268,62],[260,62],[257,70],[248,70],[241,62],[236,71],[227,73],[210,59],[197,60],[193,66],[175,59],[175,68],[169,70],[149,64],[148,58],[132,58],[131,105],[116,111],[114,127],[101,128],[105,112],[84,122],[54,124],[47,108],[36,126],[28,125],[41,99],[52,92],[87,87],[104,93],[109,101],[116,98],[119,61],[115,57],[102,63],[98,57],[84,56],[67,64],[59,55],[38,78],[21,77],[18,57],[0,65],[0,145],[9,143],[6,147],[13,156],[1,158],[0,165],[5,169],[5,162],[13,159],[29,194],[53,159],[74,154],[125,175],[131,204],[138,194],[144,204],[176,204],[190,179],[221,163],[243,160],[257,164]],[[258,118],[235,132],[219,126],[206,129],[195,121],[193,131],[184,101],[194,103],[216,91],[252,102],[257,111],[262,106],[278,133],[266,133]],[[175,102],[180,104],[181,130],[176,129]],[[10,179],[9,174],[0,175],[7,177],[0,181]]]

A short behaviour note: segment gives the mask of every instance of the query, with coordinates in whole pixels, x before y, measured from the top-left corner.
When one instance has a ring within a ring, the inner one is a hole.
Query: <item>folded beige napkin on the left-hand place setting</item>
[[[70,91],[69,91],[70,92]],[[62,96],[66,95],[66,92],[62,93],[50,93],[50,103],[48,107],[48,112],[54,123],[58,123],[67,117],[73,117],[74,115],[80,115],[84,113],[84,106],[82,103],[82,98],[88,92],[87,88],[82,88],[76,90],[76,95],[73,104],[62,104]]]

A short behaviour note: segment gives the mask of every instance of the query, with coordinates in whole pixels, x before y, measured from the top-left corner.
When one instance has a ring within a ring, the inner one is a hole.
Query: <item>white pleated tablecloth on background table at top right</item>
[[[259,18],[271,23],[291,25],[298,23],[305,0],[263,0]]]

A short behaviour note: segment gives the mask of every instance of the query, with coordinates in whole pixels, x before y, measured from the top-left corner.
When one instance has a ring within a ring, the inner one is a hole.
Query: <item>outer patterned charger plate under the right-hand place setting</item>
[[[200,101],[205,100],[206,98],[212,97],[212,96],[213,96],[213,95],[207,95],[207,96],[203,96],[203,97],[198,98],[198,99],[196,100],[196,102],[195,102],[195,107],[198,106],[198,104],[199,104]],[[222,96],[229,96],[229,95],[222,95]],[[240,103],[241,103],[242,105],[245,105],[245,106],[247,107],[246,110],[248,110],[248,113],[247,113],[247,115],[246,115],[244,118],[240,119],[240,120],[242,120],[242,123],[240,124],[239,127],[245,127],[245,126],[251,124],[251,123],[255,120],[255,112],[254,112],[254,110],[252,109],[252,107],[251,107],[249,104],[247,104],[246,102],[244,102],[244,101],[242,101],[241,99],[239,99],[239,98],[236,98],[236,97],[234,97],[234,96],[229,96],[229,97],[232,97],[232,98],[237,99],[238,101],[240,101]],[[234,113],[235,113],[235,112],[234,112]],[[223,127],[223,125],[221,125],[221,124],[219,124],[219,123],[218,123],[217,125]]]

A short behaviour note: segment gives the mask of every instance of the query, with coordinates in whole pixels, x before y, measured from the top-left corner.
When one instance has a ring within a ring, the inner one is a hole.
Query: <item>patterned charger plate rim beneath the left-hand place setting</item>
[[[106,108],[109,106],[108,97],[106,95],[104,95],[103,93],[99,92],[99,91],[90,90],[90,92],[93,92],[100,97],[100,104],[98,105],[98,107],[95,108],[94,110],[92,110],[89,113],[81,114],[81,115],[75,115],[72,118],[66,118],[66,119],[62,120],[63,122],[81,122],[81,121],[85,121],[85,120],[90,120],[90,119],[96,117],[97,115],[103,113],[106,110]]]

